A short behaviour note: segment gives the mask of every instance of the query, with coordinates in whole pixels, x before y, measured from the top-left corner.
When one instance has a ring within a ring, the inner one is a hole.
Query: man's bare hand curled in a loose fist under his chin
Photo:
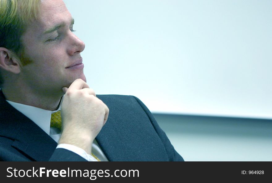
[[[91,154],[91,144],[108,119],[109,109],[85,81],[76,79],[62,101],[62,136],[60,143],[68,143]]]

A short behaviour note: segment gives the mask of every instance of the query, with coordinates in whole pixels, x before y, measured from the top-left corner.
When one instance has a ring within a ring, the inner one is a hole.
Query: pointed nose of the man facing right
[[[72,32],[70,34],[70,39],[68,42],[68,54],[73,56],[75,54],[78,54],[82,52],[85,49],[85,44],[82,40],[80,40],[76,35],[74,35]]]

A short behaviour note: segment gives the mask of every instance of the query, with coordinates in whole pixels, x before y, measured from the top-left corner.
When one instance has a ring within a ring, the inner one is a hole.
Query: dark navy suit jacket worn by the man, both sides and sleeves
[[[109,108],[96,137],[109,161],[183,161],[147,107],[134,96],[96,95]],[[57,143],[0,90],[1,161],[86,161]]]

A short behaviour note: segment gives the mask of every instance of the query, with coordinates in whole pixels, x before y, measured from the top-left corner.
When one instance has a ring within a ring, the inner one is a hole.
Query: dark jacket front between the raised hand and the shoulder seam
[[[162,141],[134,98],[96,96],[109,108],[108,120],[96,137],[109,161],[168,161]]]

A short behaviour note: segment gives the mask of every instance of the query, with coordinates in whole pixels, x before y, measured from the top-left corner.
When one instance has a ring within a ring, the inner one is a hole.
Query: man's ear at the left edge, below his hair
[[[14,74],[21,72],[20,62],[15,53],[3,47],[0,47],[0,68]]]

